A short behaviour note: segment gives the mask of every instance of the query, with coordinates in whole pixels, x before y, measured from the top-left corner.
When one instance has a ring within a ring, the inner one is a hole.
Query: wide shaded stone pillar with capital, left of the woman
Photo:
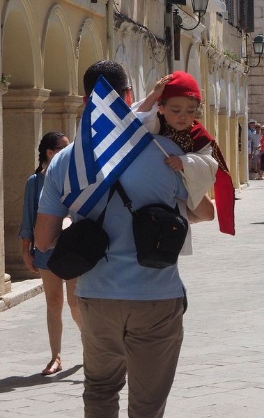
[[[49,93],[43,88],[12,89],[3,98],[5,255],[6,272],[12,279],[38,277],[24,265],[21,238],[17,234],[22,222],[26,179],[38,165],[43,102]]]

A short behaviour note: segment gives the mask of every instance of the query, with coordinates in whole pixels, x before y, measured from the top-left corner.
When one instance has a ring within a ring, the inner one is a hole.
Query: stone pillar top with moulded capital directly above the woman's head
[[[43,134],[59,131],[73,141],[77,129],[77,111],[81,104],[82,97],[79,95],[51,95],[44,105]]]

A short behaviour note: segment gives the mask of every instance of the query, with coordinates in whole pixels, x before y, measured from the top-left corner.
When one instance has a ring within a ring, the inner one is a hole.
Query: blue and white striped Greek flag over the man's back
[[[152,140],[152,134],[100,75],[72,147],[63,204],[86,217]]]

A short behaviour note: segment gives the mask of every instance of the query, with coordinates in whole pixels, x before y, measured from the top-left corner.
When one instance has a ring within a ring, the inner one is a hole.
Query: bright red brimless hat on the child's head
[[[196,79],[184,71],[173,72],[171,81],[166,84],[159,100],[185,96],[201,102],[201,91]]]

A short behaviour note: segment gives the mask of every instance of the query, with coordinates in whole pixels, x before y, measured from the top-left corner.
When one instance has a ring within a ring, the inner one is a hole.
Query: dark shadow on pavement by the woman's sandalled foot
[[[68,370],[60,371],[59,373],[49,376],[43,376],[41,373],[36,373],[31,376],[10,376],[9,378],[0,380],[0,393],[12,392],[20,387],[47,385],[47,383],[59,382],[61,380],[63,380],[63,382],[72,382],[72,385],[79,385],[83,383],[83,380],[64,379],[76,373],[81,367],[82,364],[77,364]]]

